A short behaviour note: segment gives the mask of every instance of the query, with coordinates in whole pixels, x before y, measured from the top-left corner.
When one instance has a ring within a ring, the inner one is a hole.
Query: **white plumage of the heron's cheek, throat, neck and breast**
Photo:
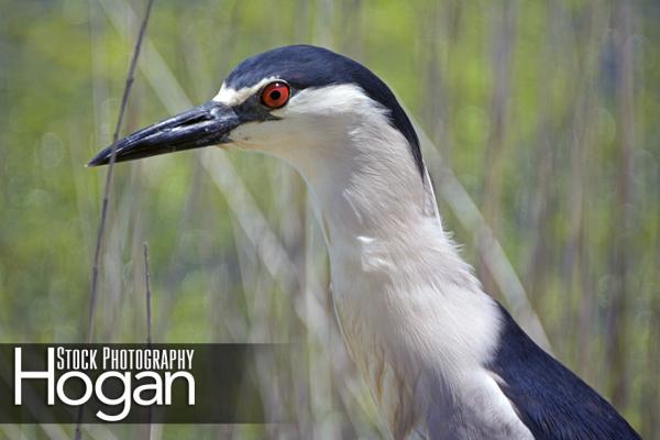
[[[299,91],[273,114],[282,120],[232,139],[306,179],[338,321],[394,438],[531,439],[483,367],[498,339],[496,305],[442,231],[430,180],[386,110],[339,85]]]

